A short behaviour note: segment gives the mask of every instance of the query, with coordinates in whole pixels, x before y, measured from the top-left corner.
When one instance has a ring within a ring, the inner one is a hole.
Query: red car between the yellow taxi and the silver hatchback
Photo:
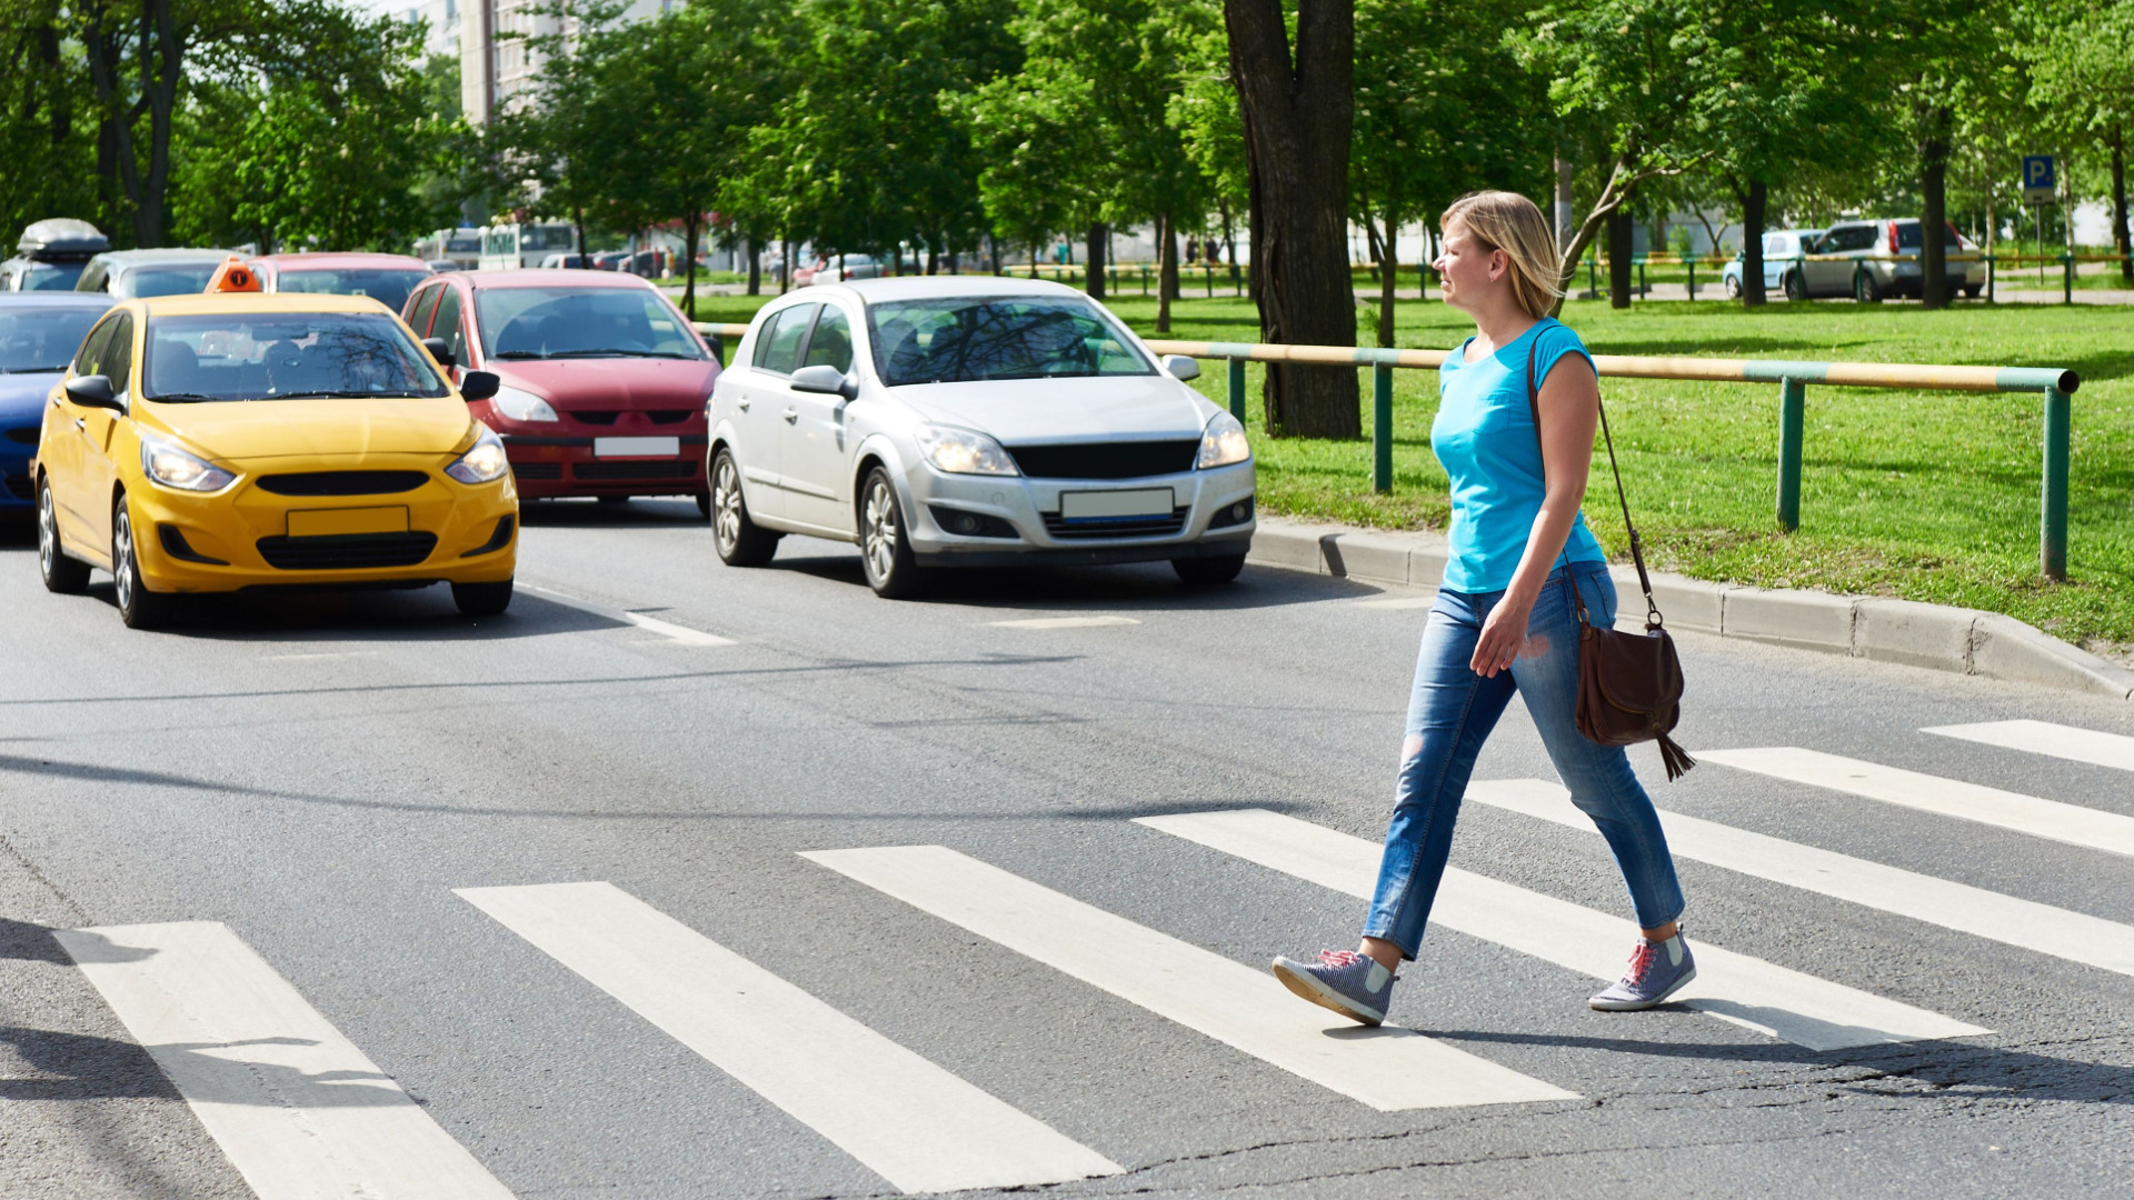
[[[602,271],[431,275],[401,312],[452,369],[504,386],[474,414],[504,438],[519,495],[694,495],[719,359],[666,297]]]

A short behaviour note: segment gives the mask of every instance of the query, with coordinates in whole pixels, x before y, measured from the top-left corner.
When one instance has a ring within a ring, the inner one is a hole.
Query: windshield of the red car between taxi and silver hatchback
[[[651,288],[482,288],[491,359],[702,359],[681,314]]]

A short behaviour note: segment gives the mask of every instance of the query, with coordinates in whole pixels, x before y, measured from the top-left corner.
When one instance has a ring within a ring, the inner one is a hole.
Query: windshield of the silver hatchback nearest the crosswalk
[[[928,382],[1152,376],[1097,305],[1054,297],[950,297],[866,305],[875,372]]]

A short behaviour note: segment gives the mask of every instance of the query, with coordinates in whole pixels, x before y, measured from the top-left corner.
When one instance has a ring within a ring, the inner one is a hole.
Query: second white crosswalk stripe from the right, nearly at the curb
[[[1797,745],[1699,749],[1697,758],[1773,779],[1810,784],[1936,816],[2066,841],[2085,850],[2134,854],[2134,818],[2085,809],[2081,805],[2002,792],[2000,788],[1921,775],[1918,771],[1901,771],[1897,767],[1882,767],[1880,762],[1863,762]]]

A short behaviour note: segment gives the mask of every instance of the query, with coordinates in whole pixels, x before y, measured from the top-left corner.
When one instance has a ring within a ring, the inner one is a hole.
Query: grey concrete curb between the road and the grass
[[[1370,583],[1436,587],[1445,577],[1445,538],[1261,519],[1248,562]],[[1641,626],[1643,613],[1635,613],[1628,600],[1637,594],[1637,570],[1615,566],[1611,574],[1624,594],[1620,621]],[[1665,572],[1652,574],[1652,596],[1675,630],[2134,700],[2134,670],[2002,613],[1878,596],[1765,591]]]

